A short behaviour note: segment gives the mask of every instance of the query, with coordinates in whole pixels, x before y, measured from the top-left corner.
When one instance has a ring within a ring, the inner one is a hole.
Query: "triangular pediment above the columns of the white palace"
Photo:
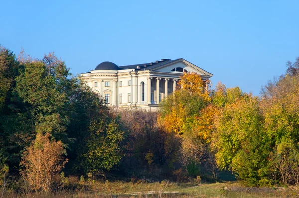
[[[176,71],[176,68],[179,68],[177,69],[179,71]],[[213,76],[213,74],[201,69],[200,67],[186,61],[183,58],[178,59],[177,61],[174,62],[157,66],[155,68],[150,69],[150,71],[168,72],[168,73],[183,73],[183,71],[187,71],[187,72],[196,72],[202,76],[210,76],[210,77]]]

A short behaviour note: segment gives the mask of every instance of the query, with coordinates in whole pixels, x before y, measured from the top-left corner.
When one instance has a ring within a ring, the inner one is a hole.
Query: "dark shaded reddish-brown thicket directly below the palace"
[[[119,115],[127,134],[122,168],[150,176],[157,176],[157,169],[171,173],[178,164],[181,142],[175,133],[157,125],[157,112],[123,110]]]

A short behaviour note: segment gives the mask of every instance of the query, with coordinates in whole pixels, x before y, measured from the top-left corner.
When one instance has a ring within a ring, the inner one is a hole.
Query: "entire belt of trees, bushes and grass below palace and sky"
[[[250,187],[298,185],[299,58],[287,66],[261,97],[222,83],[213,90],[196,73],[184,73],[159,112],[115,111],[53,53],[32,59],[21,52],[16,58],[1,47],[2,193],[243,192],[228,191],[226,183],[196,187],[220,181],[224,170]],[[134,179],[108,182],[126,178]],[[188,189],[190,181],[194,189]]]

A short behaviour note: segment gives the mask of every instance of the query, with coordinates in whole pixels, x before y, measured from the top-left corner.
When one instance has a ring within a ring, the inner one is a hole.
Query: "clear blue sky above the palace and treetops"
[[[259,95],[299,56],[298,0],[2,0],[0,44],[42,58],[54,51],[73,74],[184,58],[213,85]]]

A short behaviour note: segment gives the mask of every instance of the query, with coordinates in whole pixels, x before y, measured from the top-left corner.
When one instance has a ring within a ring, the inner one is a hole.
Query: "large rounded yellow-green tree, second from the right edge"
[[[259,105],[259,98],[244,94],[225,105],[215,121],[218,166],[232,170],[250,185],[257,185],[268,174],[270,141],[263,130],[264,118]]]

